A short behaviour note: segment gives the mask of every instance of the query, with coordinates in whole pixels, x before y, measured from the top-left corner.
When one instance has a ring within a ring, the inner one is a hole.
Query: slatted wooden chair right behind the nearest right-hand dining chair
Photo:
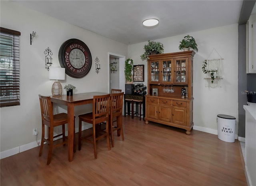
[[[110,125],[110,134],[111,134],[111,144],[114,147],[114,135],[113,132],[117,130],[117,135],[122,136],[124,141],[124,132],[122,126],[122,110],[123,110],[123,100],[124,92],[111,94],[110,101],[110,112],[109,112],[109,125]],[[114,118],[116,118],[114,120]],[[116,122],[116,125],[114,125]]]

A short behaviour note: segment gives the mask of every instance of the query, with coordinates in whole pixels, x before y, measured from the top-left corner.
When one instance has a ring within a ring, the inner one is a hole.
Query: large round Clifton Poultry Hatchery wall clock
[[[78,39],[66,40],[59,50],[60,66],[72,78],[82,78],[92,66],[92,55],[88,46]]]

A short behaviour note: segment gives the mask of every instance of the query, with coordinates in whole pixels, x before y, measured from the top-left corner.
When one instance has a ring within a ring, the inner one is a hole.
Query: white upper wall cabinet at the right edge
[[[256,73],[256,14],[246,24],[246,73]]]

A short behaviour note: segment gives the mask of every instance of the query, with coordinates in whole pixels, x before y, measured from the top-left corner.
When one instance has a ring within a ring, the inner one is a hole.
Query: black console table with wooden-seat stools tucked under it
[[[126,112],[126,103],[127,104],[127,112]],[[136,104],[136,111],[134,112],[134,103]],[[130,104],[132,104],[132,110],[130,110]],[[141,104],[143,107],[143,113],[141,114]],[[143,116],[143,120],[145,118],[145,96],[133,95],[133,94],[124,94],[124,117],[126,114],[132,114],[132,118],[135,116],[139,116],[141,120],[141,116]]]

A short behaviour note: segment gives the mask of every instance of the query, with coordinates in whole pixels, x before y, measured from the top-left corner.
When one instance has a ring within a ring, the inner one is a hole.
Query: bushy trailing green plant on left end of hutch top
[[[160,42],[155,42],[153,40],[148,40],[148,44],[144,45],[144,54],[140,56],[142,60],[149,59],[149,55],[154,54],[163,54],[164,46]]]

